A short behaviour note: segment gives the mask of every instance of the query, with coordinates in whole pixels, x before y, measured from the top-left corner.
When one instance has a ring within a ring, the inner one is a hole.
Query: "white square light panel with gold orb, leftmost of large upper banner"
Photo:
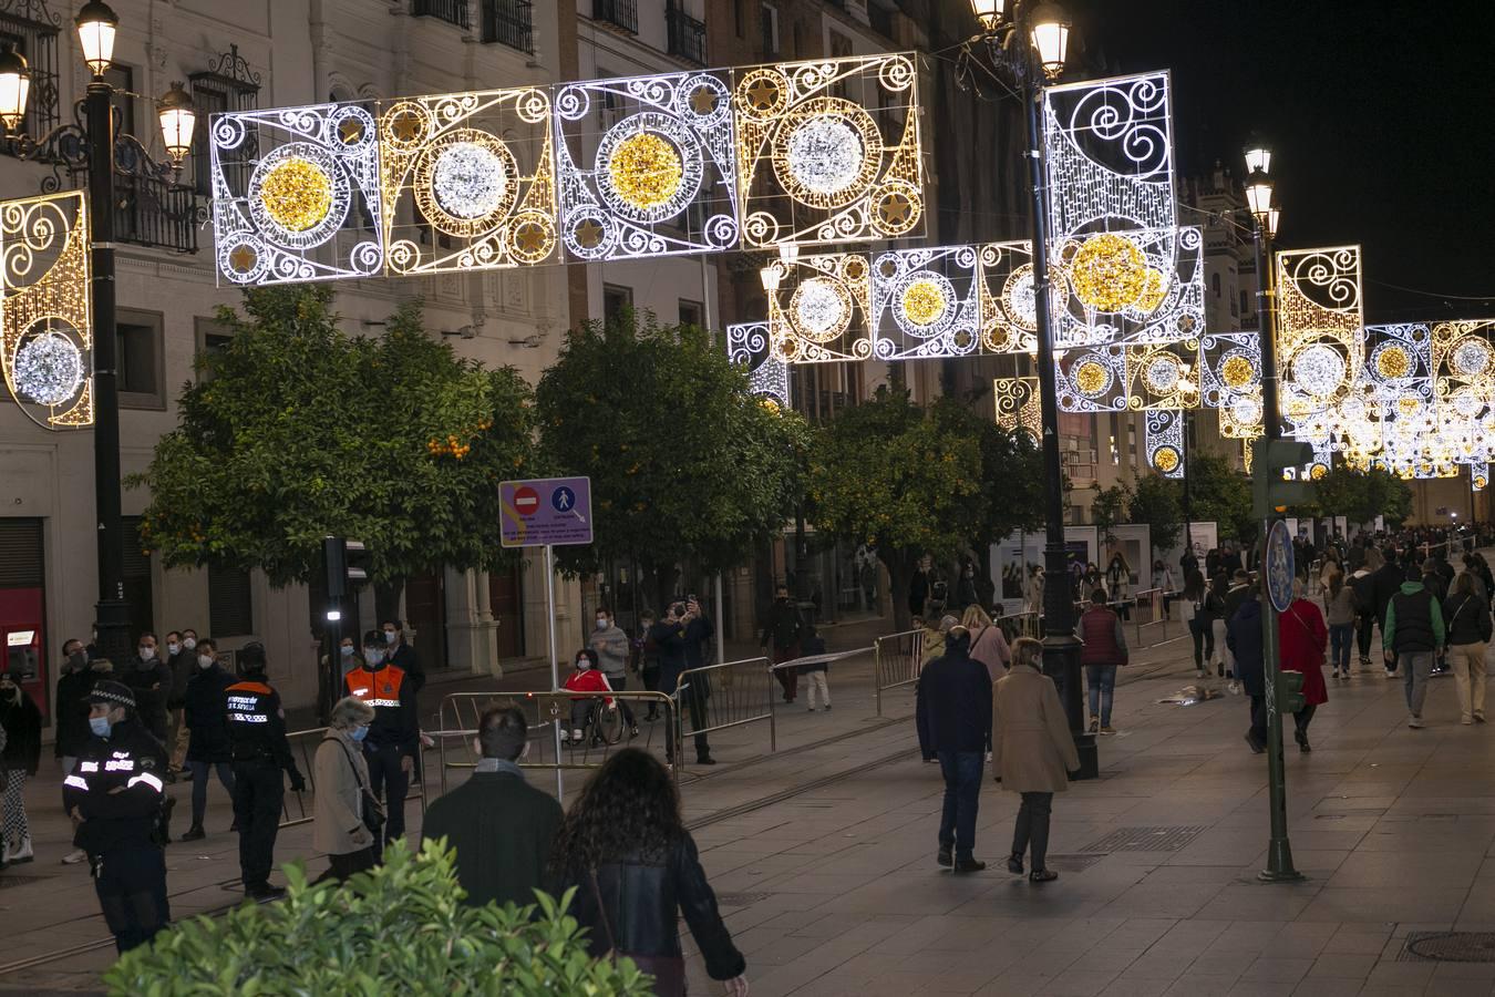
[[[214,115],[208,148],[220,278],[281,284],[381,271],[378,142],[365,108]]]

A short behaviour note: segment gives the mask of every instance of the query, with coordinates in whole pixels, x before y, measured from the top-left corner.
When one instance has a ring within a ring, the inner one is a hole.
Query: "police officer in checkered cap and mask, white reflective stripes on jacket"
[[[135,713],[120,682],[94,683],[90,738],[63,779],[73,845],[88,855],[105,924],[120,952],[148,943],[170,921],[161,851],[166,749]]]

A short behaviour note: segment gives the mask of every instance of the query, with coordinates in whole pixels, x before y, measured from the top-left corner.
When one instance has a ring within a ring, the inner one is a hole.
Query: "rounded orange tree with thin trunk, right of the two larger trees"
[[[1042,517],[1042,474],[1032,439],[975,416],[955,399],[931,408],[878,389],[816,438],[810,496],[819,529],[875,544],[893,577],[898,623],[916,559],[978,553]]]

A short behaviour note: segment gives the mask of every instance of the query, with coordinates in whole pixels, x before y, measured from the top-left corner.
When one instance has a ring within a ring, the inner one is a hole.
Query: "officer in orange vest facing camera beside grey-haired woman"
[[[375,854],[405,833],[405,792],[416,767],[420,725],[416,722],[416,683],[386,659],[387,644],[378,631],[363,635],[363,667],[348,673],[348,695],[374,707],[374,723],[363,738],[369,789],[384,800],[389,813],[375,834]]]

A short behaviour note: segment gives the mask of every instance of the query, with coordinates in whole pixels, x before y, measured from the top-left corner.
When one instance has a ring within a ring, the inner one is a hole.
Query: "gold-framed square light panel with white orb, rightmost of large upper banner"
[[[733,103],[746,247],[919,233],[924,166],[910,57],[740,70]]]

